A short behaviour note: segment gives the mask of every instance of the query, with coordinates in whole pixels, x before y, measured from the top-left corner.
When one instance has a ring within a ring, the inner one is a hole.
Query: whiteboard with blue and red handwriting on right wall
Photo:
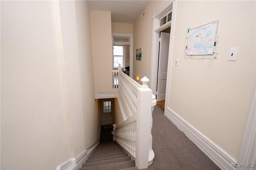
[[[214,55],[218,20],[188,29],[186,55]]]

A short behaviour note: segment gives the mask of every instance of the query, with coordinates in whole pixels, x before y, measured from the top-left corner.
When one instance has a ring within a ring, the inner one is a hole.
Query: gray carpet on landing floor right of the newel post
[[[220,168],[180,131],[158,107],[154,107],[152,149],[149,170],[220,170]]]

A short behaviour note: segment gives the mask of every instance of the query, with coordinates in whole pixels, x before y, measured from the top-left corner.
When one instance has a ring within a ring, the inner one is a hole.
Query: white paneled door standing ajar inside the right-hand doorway
[[[156,101],[165,100],[170,33],[160,33]]]

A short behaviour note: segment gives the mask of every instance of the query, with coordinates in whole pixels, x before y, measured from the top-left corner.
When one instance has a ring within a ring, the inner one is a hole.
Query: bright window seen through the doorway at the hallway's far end
[[[118,68],[119,64],[124,68],[124,45],[113,45],[114,68]]]

